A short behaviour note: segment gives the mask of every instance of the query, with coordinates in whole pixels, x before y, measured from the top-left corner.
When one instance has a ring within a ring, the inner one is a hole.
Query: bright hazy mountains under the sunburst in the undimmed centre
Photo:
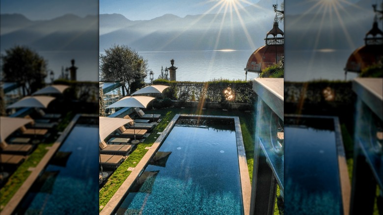
[[[255,50],[264,45],[266,33],[273,27],[275,14],[269,1],[240,9],[240,17],[235,12],[184,18],[165,14],[152,20],[131,21],[120,14],[101,14],[100,51],[113,44],[128,45],[136,51]]]

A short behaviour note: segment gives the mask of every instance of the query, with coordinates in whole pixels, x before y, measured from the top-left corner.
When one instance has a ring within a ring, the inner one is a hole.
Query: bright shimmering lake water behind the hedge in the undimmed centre
[[[154,79],[161,75],[161,66],[170,67],[174,59],[177,81],[210,81],[213,79],[245,80],[246,63],[254,50],[234,51],[164,51],[138,52],[148,60],[148,68],[154,72]],[[105,54],[105,53],[101,53]],[[248,73],[247,80],[257,78]],[[145,82],[150,82],[149,78]]]

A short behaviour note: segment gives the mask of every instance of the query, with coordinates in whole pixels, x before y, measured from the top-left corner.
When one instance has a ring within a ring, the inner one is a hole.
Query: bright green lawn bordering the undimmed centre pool
[[[245,113],[244,111],[239,110],[228,110],[223,111],[221,109],[204,109],[199,110],[197,108],[168,108],[168,109],[156,109],[153,111],[147,110],[147,113],[161,113],[162,121],[151,131],[151,134],[148,138],[145,139],[143,143],[137,145],[137,148],[134,152],[131,153],[128,159],[126,159],[120,167],[109,177],[107,183],[102,189],[100,189],[100,200],[99,206],[100,211],[108,203],[113,194],[129,176],[131,171],[127,171],[128,167],[135,167],[137,163],[142,159],[145,153],[148,150],[145,150],[145,147],[151,146],[159,134],[158,132],[164,131],[166,126],[169,124],[170,120],[175,116],[175,114],[198,114],[198,115],[221,115],[221,116],[238,116],[240,117],[241,130],[244,139],[245,151],[247,166],[250,175],[250,181],[252,178],[253,171],[253,157],[254,157],[254,124],[255,118],[254,113]]]

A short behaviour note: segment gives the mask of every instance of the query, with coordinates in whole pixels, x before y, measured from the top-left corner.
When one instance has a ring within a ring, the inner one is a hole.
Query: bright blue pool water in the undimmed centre
[[[155,160],[118,215],[243,214],[234,122],[179,119]]]

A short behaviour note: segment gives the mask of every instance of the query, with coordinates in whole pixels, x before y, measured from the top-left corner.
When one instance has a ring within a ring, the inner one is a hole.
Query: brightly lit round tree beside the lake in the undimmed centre
[[[147,76],[147,60],[126,45],[113,45],[100,54],[100,76],[104,81],[123,81],[126,91]],[[133,84],[134,85],[134,84]]]

